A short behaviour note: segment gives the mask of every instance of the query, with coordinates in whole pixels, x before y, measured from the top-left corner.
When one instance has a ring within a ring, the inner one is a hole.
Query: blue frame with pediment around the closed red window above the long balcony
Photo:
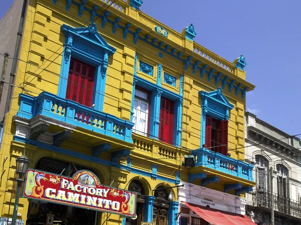
[[[109,64],[108,57],[115,53],[116,49],[110,46],[98,33],[95,23],[92,23],[88,28],[73,28],[63,24],[61,31],[65,34],[65,42],[57,95],[66,97],[70,58],[72,56],[95,67],[92,104],[95,104],[96,110],[102,111],[106,73]]]

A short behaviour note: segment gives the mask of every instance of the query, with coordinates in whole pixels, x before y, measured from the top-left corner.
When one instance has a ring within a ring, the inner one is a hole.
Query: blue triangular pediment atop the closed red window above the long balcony
[[[94,44],[98,47],[104,48],[109,54],[115,53],[116,49],[109,45],[105,39],[97,31],[97,25],[92,23],[88,27],[73,28],[66,24],[61,26],[61,30],[64,32],[65,36],[68,38],[72,37],[73,40],[83,39],[84,41]],[[76,38],[76,39],[75,39]]]

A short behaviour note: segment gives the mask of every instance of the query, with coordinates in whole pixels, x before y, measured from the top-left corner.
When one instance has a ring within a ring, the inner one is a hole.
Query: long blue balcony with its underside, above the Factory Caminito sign
[[[73,132],[74,139],[80,141],[85,139],[89,144],[101,143],[99,138],[105,136],[110,142],[121,140],[123,143],[126,141],[133,145],[131,135],[134,123],[130,121],[46,91],[36,97],[21,93],[20,100],[20,109],[14,119],[28,120],[31,139],[35,133],[38,135],[41,132],[57,133],[64,128]],[[44,131],[33,128],[41,123],[47,126]],[[74,134],[74,131],[78,132]]]

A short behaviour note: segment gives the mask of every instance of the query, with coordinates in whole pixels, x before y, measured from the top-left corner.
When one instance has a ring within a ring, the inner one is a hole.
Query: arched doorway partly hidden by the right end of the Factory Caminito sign
[[[142,183],[138,180],[132,180],[128,185],[128,190],[137,192],[136,219],[126,218],[126,225],[139,225],[143,221],[145,191]]]

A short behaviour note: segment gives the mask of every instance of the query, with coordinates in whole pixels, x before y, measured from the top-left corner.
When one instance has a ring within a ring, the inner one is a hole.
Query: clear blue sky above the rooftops
[[[12,3],[2,2],[0,18]],[[229,61],[243,54],[256,85],[247,110],[291,135],[301,133],[300,8],[300,0],[143,0],[140,7],[179,32],[193,23],[195,41]]]

